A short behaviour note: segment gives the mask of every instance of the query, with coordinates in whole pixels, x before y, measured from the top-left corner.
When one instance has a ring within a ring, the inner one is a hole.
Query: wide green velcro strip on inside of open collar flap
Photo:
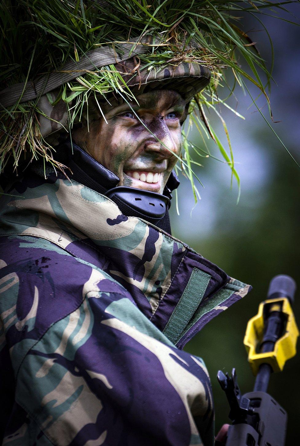
[[[210,274],[204,273],[198,268],[193,268],[189,282],[163,330],[164,335],[173,344],[176,344],[181,338],[182,332],[197,310],[210,278]]]

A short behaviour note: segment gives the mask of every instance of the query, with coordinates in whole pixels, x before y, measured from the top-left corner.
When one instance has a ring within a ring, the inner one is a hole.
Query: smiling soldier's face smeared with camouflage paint
[[[127,103],[111,107],[105,113],[107,122],[95,120],[89,132],[77,130],[74,141],[115,173],[119,186],[161,194],[177,162],[175,154],[181,153],[186,103],[173,90],[153,90],[137,100],[139,105],[131,106],[138,117]]]

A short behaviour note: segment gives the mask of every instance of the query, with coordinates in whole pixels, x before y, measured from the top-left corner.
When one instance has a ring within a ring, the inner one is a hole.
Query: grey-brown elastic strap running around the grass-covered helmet
[[[153,45],[158,45],[160,43],[155,42],[155,37],[152,38]],[[50,73],[36,82],[27,82],[26,87],[25,83],[18,83],[0,91],[0,105],[5,108],[10,107],[15,104],[20,97],[20,102],[36,99],[39,96],[45,95],[46,93],[49,93],[49,91],[60,87],[62,84],[82,76],[86,71],[92,71],[101,66],[113,65],[124,61],[129,57],[133,57],[136,54],[144,54],[149,51],[150,39],[151,37],[147,36],[140,39],[140,41],[137,41],[138,39],[132,39],[132,42],[117,44],[115,45],[115,48],[111,46],[103,46],[91,50],[86,53],[85,57],[79,62],[67,62],[66,65],[62,67],[62,70]]]

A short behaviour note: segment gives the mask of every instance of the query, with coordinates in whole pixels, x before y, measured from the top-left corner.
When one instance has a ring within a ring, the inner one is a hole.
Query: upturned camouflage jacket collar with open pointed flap
[[[44,238],[105,270],[178,348],[251,289],[99,192],[43,175],[25,175],[10,187],[14,196],[3,195],[1,235]]]

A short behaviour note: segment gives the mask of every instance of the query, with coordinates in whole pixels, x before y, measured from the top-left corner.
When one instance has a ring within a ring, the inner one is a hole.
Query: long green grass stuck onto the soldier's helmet
[[[184,150],[177,164],[177,169],[189,178],[197,202],[199,193],[192,165],[200,164],[196,161],[199,157],[217,158],[208,149],[206,141],[209,139],[214,140],[223,162],[231,169],[232,179],[237,181],[238,189],[240,186],[228,130],[217,109],[220,102],[230,108],[226,99],[218,98],[218,88],[227,85],[230,70],[234,74],[230,94],[237,85],[243,87],[247,79],[266,97],[272,116],[266,88],[270,85],[273,60],[268,70],[255,44],[241,29],[240,17],[247,11],[257,17],[261,25],[259,14],[268,8],[271,12],[276,8],[285,10],[284,4],[288,3],[267,0],[3,0],[0,5],[1,85],[6,88],[16,83],[26,84],[50,72],[63,71],[66,62],[78,62],[90,50],[102,46],[109,45],[120,51],[120,44],[135,41],[133,51],[139,39],[147,36],[157,38],[160,44],[149,43],[147,53],[139,55],[138,65],[141,64],[143,70],[150,72],[163,65],[177,66],[182,62],[207,66],[212,72],[212,80],[190,103],[188,124],[183,132]],[[270,36],[269,39],[271,42]],[[273,58],[272,46],[271,52]],[[259,73],[264,77],[261,78]],[[61,99],[66,103],[70,134],[74,122],[80,121],[83,106],[88,105],[91,95],[102,113],[101,103],[112,93],[120,94],[126,101],[135,100],[114,65],[95,67],[95,70],[86,71],[64,84],[55,103]],[[50,95],[47,97],[50,102],[53,100]],[[0,170],[4,169],[9,157],[13,158],[15,169],[21,159],[30,162],[41,157],[54,168],[64,169],[55,161],[55,149],[41,136],[38,99],[24,103],[19,100],[0,111]],[[228,150],[210,124],[209,110],[214,110],[222,122]],[[197,128],[204,149],[190,141],[192,127]]]

